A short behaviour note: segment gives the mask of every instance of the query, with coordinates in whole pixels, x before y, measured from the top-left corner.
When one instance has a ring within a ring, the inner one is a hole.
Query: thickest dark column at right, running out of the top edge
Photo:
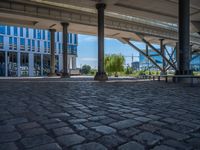
[[[179,68],[176,74],[190,75],[190,0],[179,0]]]

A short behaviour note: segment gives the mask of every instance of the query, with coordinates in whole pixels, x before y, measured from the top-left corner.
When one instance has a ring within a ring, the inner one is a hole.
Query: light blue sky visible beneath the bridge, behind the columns
[[[145,48],[144,44],[136,43],[140,48]],[[78,35],[78,57],[77,67],[88,64],[92,68],[97,68],[97,37],[90,35]],[[139,53],[129,45],[123,44],[116,39],[105,38],[105,54],[122,54],[125,56],[126,64],[130,64],[132,61],[131,56],[134,57],[134,61],[138,61]]]

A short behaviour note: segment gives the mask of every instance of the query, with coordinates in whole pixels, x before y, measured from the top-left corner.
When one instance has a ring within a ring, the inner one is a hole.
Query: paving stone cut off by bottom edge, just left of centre
[[[72,150],[107,150],[102,144],[91,142],[72,147]]]

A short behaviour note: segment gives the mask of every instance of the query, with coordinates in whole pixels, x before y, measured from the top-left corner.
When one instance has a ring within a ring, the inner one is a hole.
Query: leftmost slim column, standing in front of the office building
[[[51,50],[50,50],[50,55],[51,55],[51,60],[50,60],[50,74],[49,76],[56,76],[55,73],[55,29],[49,29],[50,31],[50,37],[51,37]]]

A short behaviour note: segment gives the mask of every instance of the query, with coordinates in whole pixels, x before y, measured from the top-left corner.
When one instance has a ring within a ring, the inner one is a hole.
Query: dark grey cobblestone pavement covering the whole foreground
[[[0,80],[0,150],[200,149],[200,87]]]

